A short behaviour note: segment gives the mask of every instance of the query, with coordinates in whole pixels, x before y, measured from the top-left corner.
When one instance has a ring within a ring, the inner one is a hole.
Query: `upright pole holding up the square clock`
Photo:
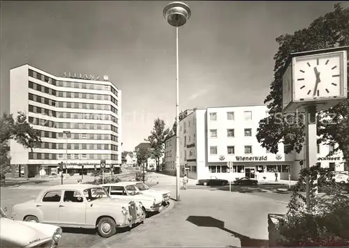
[[[306,146],[305,146],[305,162],[306,169],[314,166],[317,162],[317,134],[316,134],[316,105],[305,107],[305,128],[306,128]],[[315,182],[316,183],[316,182]],[[318,194],[318,187],[315,187],[315,196]],[[306,208],[310,210],[310,178],[306,177]]]

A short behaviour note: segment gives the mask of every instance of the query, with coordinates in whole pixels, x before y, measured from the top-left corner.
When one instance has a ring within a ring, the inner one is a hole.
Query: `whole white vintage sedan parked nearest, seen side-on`
[[[35,200],[13,206],[12,216],[25,222],[43,222],[61,227],[97,228],[104,238],[117,228],[144,222],[142,203],[112,199],[98,185],[55,185],[44,189]]]

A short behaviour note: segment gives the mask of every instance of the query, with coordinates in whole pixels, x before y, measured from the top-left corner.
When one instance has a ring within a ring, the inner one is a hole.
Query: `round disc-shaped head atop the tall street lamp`
[[[174,1],[163,9],[163,17],[171,26],[183,26],[191,17],[191,9],[185,3]]]

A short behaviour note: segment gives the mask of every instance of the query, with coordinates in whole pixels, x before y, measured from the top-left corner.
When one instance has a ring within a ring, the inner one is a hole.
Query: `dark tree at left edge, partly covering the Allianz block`
[[[34,130],[27,122],[27,116],[18,112],[17,118],[13,114],[3,114],[0,118],[0,173],[3,175],[10,169],[10,157],[8,156],[9,141],[12,139],[18,144],[29,148],[31,152],[41,143],[39,131]]]

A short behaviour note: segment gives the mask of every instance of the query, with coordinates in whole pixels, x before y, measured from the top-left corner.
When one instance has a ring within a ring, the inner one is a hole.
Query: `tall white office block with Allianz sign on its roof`
[[[22,111],[40,131],[42,144],[33,152],[10,142],[11,164],[26,176],[43,168],[106,167],[121,164],[121,90],[107,76],[56,77],[30,65],[10,70],[10,113]]]

